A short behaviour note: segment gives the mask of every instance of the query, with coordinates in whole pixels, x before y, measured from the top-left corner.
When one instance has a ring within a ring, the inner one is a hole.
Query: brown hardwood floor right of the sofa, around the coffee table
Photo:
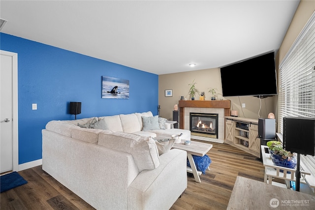
[[[263,181],[264,167],[255,156],[227,144],[211,144],[210,171],[200,176],[201,183],[188,174],[188,187],[171,210],[226,210],[237,176]]]

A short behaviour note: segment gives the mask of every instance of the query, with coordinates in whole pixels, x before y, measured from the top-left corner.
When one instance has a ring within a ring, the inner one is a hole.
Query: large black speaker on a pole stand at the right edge
[[[299,154],[315,154],[315,119],[284,118],[284,149]]]

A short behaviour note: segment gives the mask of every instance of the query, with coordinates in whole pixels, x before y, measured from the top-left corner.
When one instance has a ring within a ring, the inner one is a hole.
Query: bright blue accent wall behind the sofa
[[[158,114],[156,74],[5,33],[0,33],[0,49],[18,54],[19,164],[42,158],[41,130],[48,121],[74,120],[70,101],[82,102],[77,119]],[[129,99],[102,99],[102,76],[129,80]]]

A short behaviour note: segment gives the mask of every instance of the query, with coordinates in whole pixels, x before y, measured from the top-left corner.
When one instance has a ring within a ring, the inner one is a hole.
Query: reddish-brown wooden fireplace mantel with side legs
[[[224,109],[224,116],[230,116],[230,100],[213,100],[213,101],[206,101],[206,100],[180,100],[178,101],[179,109],[179,127],[184,129],[184,114],[185,114],[185,107],[196,107],[196,108],[222,108]]]

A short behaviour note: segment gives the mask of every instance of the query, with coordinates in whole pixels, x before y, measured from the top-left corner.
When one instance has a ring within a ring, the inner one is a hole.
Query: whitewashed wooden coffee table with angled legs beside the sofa
[[[212,144],[190,141],[190,145],[185,145],[185,141],[187,140],[182,139],[181,143],[174,144],[173,148],[187,151],[187,157],[190,163],[190,167],[187,167],[187,172],[192,173],[195,181],[200,183],[199,175],[201,175],[202,172],[197,171],[192,155],[204,156],[212,148]]]

